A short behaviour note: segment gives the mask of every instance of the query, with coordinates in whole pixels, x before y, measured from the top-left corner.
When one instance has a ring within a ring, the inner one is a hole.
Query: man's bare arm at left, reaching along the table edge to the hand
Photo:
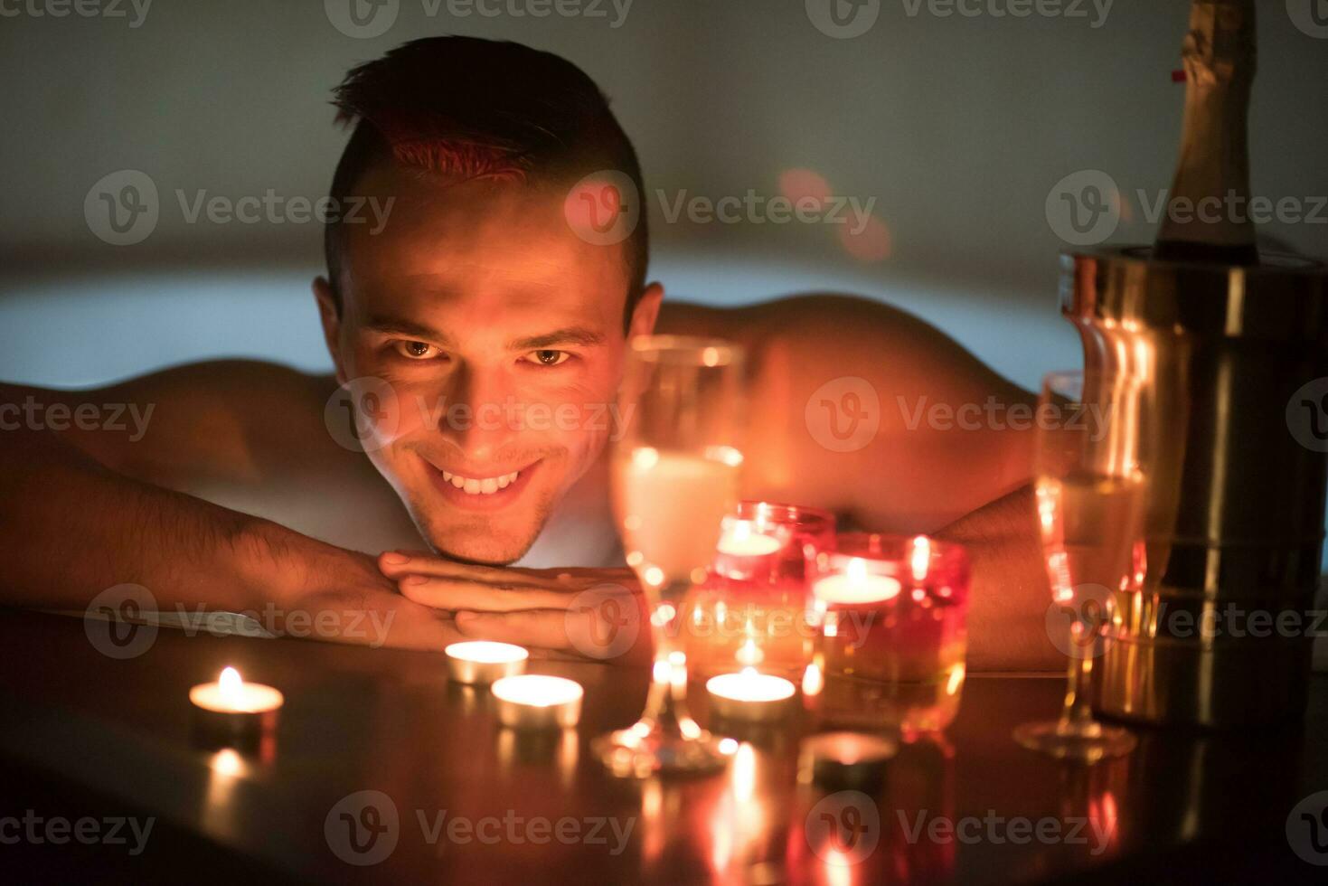
[[[7,385],[0,404],[97,401],[98,393],[105,392]],[[173,405],[179,406],[157,401]],[[165,610],[271,608],[278,630],[292,611],[341,614],[324,619],[333,634],[327,639],[360,639],[337,636],[336,626],[349,626],[351,614],[365,608],[394,614],[392,636],[378,642],[437,648],[456,636],[434,611],[397,595],[367,557],[116,470],[177,460],[162,452],[178,442],[171,434],[155,442],[145,436],[131,449],[105,430],[85,432],[92,442],[80,446],[77,434],[29,424],[7,421],[0,430],[0,603],[78,610],[108,587],[134,583]],[[226,469],[224,460],[199,465]]]

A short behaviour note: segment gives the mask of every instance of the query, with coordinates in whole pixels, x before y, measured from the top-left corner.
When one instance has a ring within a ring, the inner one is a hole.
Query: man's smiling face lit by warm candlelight
[[[323,313],[340,380],[390,389],[367,388],[369,457],[440,553],[518,559],[618,428],[622,247],[579,238],[555,186],[382,166],[356,191],[394,201],[378,232],[343,224],[341,317]]]

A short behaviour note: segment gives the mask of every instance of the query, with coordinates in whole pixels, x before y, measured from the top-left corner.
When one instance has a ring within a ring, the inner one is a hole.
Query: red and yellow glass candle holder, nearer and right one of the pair
[[[926,535],[841,534],[817,555],[803,695],[827,725],[946,728],[964,684],[968,555]]]

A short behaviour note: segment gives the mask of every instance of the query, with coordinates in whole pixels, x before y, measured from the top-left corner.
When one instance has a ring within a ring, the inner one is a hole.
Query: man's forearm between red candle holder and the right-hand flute
[[[972,561],[968,667],[1052,671],[1065,667],[1046,635],[1046,586],[1032,489],[1024,486],[960,518],[938,538],[963,543]]]

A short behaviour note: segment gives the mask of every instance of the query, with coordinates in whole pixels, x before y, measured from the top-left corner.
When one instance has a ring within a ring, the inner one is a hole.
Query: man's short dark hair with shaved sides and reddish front
[[[610,169],[645,193],[636,150],[595,81],[566,58],[518,43],[412,40],[352,68],[332,104],[337,122],[355,126],[332,177],[333,206],[344,205],[365,171],[384,162],[450,182],[579,178]],[[329,215],[323,243],[340,310],[345,238],[336,217]],[[644,211],[623,247],[625,328],[645,287]]]

